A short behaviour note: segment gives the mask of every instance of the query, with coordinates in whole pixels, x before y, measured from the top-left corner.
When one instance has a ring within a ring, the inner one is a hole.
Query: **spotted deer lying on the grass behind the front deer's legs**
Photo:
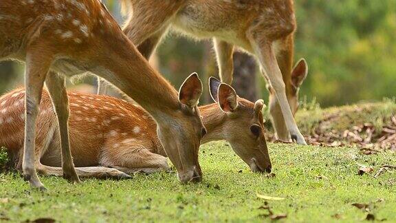
[[[203,143],[228,140],[252,171],[270,172],[263,134],[263,100],[252,103],[239,98],[232,87],[215,78],[210,78],[210,94],[217,103],[199,107],[207,129]],[[68,96],[70,147],[79,176],[128,178],[137,171],[168,169],[156,123],[144,109],[109,96],[76,92]],[[0,146],[9,149],[17,169],[23,156],[24,97],[25,90],[16,89],[0,98]],[[62,176],[58,124],[46,91],[36,125],[39,173]]]

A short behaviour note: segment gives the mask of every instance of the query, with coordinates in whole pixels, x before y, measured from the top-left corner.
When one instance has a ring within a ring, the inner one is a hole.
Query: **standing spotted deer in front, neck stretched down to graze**
[[[32,187],[44,188],[34,161],[36,117],[44,81],[60,126],[63,175],[72,182],[79,181],[69,149],[69,105],[65,79],[60,74],[85,72],[106,79],[155,118],[159,139],[181,182],[201,180],[198,149],[205,129],[196,106],[201,81],[193,74],[178,95],[148,65],[100,1],[0,0],[0,59],[26,63],[22,169]]]

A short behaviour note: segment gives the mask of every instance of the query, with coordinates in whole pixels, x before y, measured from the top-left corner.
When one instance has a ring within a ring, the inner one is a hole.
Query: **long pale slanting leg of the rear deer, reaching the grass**
[[[276,61],[272,43],[267,41],[252,41],[252,45],[256,56],[259,58],[262,70],[265,72],[265,75],[270,81],[270,85],[274,89],[276,99],[281,107],[283,118],[285,118],[285,123],[290,136],[292,136],[292,140],[296,140],[298,144],[307,145],[307,142],[305,142],[293,118],[292,110],[290,109],[286,96],[285,83],[283,82],[282,73]]]

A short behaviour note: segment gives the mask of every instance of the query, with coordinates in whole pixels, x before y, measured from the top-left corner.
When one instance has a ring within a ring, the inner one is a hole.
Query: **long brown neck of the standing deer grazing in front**
[[[90,71],[133,98],[157,122],[174,116],[179,109],[175,88],[148,64],[126,36],[110,42],[104,44],[103,53],[97,54],[98,63]]]

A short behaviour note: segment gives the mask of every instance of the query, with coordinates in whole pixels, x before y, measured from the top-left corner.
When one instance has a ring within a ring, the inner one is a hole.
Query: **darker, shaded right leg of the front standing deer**
[[[69,99],[67,98],[65,77],[50,72],[45,83],[58,117],[59,132],[61,134],[63,177],[70,182],[80,182],[74,170],[72,152],[69,145]]]

